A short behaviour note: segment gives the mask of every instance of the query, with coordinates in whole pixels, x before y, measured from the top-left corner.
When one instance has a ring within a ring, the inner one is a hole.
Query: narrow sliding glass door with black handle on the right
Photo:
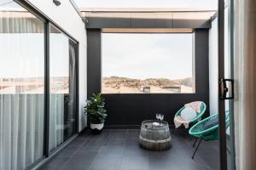
[[[221,169],[236,169],[234,124],[234,3],[218,0],[219,141]],[[237,94],[236,94],[237,96]]]

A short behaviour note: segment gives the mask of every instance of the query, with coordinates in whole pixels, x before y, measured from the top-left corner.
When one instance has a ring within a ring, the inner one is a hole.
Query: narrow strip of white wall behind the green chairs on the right
[[[209,31],[209,100],[210,115],[218,113],[218,18]]]

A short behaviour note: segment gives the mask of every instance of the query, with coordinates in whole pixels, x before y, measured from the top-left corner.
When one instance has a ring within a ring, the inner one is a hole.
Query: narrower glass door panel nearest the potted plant
[[[75,46],[61,31],[49,33],[49,151],[76,133]]]

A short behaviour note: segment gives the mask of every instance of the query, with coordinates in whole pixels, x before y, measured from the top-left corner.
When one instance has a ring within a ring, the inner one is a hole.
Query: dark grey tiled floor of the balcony
[[[139,130],[90,131],[68,144],[42,170],[218,170],[218,141],[202,141],[192,160],[193,141],[186,133],[172,134],[172,149],[155,152],[137,144]]]

